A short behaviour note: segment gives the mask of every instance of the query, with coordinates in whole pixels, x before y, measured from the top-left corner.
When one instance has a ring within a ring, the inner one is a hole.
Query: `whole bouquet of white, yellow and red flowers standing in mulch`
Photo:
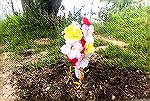
[[[94,27],[86,17],[83,17],[81,24],[73,21],[64,29],[65,45],[61,47],[61,52],[75,68],[75,76],[78,79],[81,78],[79,68],[84,69],[88,66],[90,57],[95,51],[93,32]]]

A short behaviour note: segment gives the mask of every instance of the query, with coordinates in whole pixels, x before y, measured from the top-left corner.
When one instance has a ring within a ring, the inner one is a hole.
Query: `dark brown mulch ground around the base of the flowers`
[[[59,61],[41,69],[17,67],[12,75],[12,86],[18,100],[23,101],[111,101],[150,99],[150,80],[141,70],[109,67],[91,62],[78,89],[69,69]],[[85,71],[86,71],[85,70]],[[74,76],[74,73],[72,73]]]

